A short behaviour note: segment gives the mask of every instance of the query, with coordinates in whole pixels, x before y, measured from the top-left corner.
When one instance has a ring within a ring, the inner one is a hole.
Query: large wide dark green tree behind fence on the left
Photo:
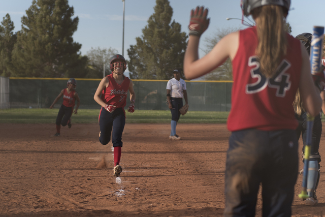
[[[73,41],[79,18],[68,0],[33,0],[21,18],[12,60],[16,77],[84,77],[87,57]]]

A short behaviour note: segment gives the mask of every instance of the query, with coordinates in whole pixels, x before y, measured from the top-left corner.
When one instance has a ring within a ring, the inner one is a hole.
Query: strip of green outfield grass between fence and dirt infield
[[[79,109],[73,123],[98,123],[99,109]],[[58,109],[3,109],[0,123],[54,123]],[[179,123],[225,123],[229,112],[188,111]],[[170,123],[170,111],[136,110],[126,112],[126,123]]]

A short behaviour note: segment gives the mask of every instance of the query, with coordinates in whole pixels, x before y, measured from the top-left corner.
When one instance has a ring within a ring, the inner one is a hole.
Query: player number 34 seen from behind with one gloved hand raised
[[[225,216],[254,216],[260,183],[263,216],[291,215],[298,175],[295,94],[299,87],[312,116],[319,114],[321,99],[304,45],[284,30],[289,7],[289,0],[242,1],[243,14],[252,15],[256,25],[223,37],[202,59],[198,47],[210,22],[208,10],[191,11],[185,77],[203,76],[227,58],[233,66]]]

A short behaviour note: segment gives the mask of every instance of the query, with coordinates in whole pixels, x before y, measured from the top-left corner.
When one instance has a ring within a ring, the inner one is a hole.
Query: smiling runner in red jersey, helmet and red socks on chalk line
[[[131,105],[127,111],[134,112],[136,94],[132,80],[123,75],[126,70],[126,60],[120,54],[114,55],[110,60],[112,74],[102,79],[93,99],[102,106],[99,116],[100,142],[103,145],[111,140],[114,147],[114,176],[122,172],[120,164],[121,149],[123,146],[122,133],[125,125],[125,111],[127,90],[130,92]]]

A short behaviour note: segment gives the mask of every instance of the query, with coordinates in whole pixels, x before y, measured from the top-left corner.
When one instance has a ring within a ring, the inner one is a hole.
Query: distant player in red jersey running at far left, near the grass
[[[80,98],[78,93],[76,92],[77,81],[74,78],[70,78],[67,83],[67,88],[61,90],[60,94],[55,98],[54,102],[50,106],[50,109],[53,108],[55,103],[63,96],[63,103],[59,109],[59,112],[56,117],[55,125],[56,125],[56,134],[54,136],[60,135],[61,125],[64,127],[68,125],[68,128],[71,128],[71,115],[72,113],[77,114],[78,108],[80,105]],[[75,101],[77,100],[76,109],[73,111],[75,107]]]

